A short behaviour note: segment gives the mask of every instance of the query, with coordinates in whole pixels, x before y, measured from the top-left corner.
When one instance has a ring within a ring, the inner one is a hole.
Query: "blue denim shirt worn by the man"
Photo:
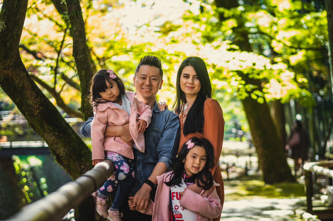
[[[155,102],[152,111],[151,123],[146,128],[145,135],[145,153],[136,149],[134,152],[134,182],[131,186],[129,195],[134,194],[142,187],[145,180],[150,177],[156,164],[164,162],[167,169],[170,169],[171,162],[174,161],[178,152],[180,138],[179,117],[172,111],[160,111]],[[91,121],[90,117],[83,123],[81,128],[82,135],[91,137]],[[151,198],[154,200],[156,188],[152,190]]]

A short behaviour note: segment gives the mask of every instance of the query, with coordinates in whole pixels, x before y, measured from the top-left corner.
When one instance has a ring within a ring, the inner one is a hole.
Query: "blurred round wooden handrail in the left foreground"
[[[75,181],[23,207],[7,221],[57,221],[96,191],[113,170],[114,165],[110,160],[100,162]]]

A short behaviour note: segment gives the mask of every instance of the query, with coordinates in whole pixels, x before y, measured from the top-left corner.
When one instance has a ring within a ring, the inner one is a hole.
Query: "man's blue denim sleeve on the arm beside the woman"
[[[165,130],[156,148],[159,155],[158,162],[164,162],[168,170],[170,170],[171,163],[174,161],[178,152],[179,138],[179,117],[173,113],[170,114],[169,119],[166,122]]]

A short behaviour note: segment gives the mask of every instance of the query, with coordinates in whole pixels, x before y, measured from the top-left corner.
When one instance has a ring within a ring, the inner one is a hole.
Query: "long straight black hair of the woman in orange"
[[[180,114],[182,107],[186,104],[186,97],[185,93],[180,88],[180,78],[181,73],[186,66],[192,66],[194,71],[200,81],[201,89],[196,97],[192,107],[189,109],[184,127],[183,127],[183,134],[186,136],[189,133],[194,133],[198,131],[199,133],[202,132],[203,126],[203,108],[206,98],[211,97],[211,84],[208,76],[208,71],[205,62],[199,57],[188,57],[183,62],[181,62],[178,72],[177,72],[177,80],[176,80],[176,98],[173,103],[173,107],[175,107],[176,114]]]

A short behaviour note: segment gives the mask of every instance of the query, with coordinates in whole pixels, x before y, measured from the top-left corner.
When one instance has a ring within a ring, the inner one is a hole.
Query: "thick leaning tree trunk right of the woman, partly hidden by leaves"
[[[238,7],[237,1],[215,0],[217,7],[231,9]],[[225,20],[223,14],[220,15],[220,21]],[[251,52],[252,48],[249,43],[248,31],[241,19],[237,20],[237,27],[233,28],[235,36],[234,44],[238,45],[241,51]],[[238,72],[245,84],[251,84],[256,90],[262,91],[261,82],[258,79],[249,78],[248,74]],[[254,146],[258,154],[259,164],[263,172],[263,180],[266,184],[280,183],[285,181],[294,182],[295,179],[291,174],[281,140],[278,136],[276,127],[270,115],[270,109],[267,103],[258,103],[252,99],[250,94],[242,100],[247,121]]]

